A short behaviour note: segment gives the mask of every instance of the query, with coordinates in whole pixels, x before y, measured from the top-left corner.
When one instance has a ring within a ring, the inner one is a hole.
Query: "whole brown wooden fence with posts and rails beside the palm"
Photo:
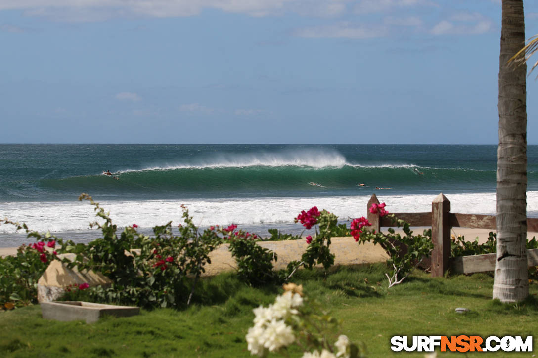
[[[368,221],[372,229],[392,226],[392,221],[372,214],[370,206],[379,204],[376,194],[372,194],[367,204]],[[431,203],[431,212],[397,212],[394,215],[409,223],[410,226],[431,226],[431,276],[443,276],[450,268],[453,273],[475,273],[495,270],[497,254],[450,257],[450,230],[452,227],[469,227],[497,230],[495,216],[480,214],[459,214],[450,212],[450,201],[443,195],[437,195]],[[527,219],[527,231],[538,232],[538,219]],[[528,266],[538,266],[538,249],[527,250]]]

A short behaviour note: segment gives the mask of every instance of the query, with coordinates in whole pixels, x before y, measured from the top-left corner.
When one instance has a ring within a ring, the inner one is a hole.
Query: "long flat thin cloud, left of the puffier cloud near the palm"
[[[383,25],[352,25],[348,22],[303,27],[295,31],[295,35],[308,38],[350,38],[367,39],[382,37],[388,34],[388,27]]]

